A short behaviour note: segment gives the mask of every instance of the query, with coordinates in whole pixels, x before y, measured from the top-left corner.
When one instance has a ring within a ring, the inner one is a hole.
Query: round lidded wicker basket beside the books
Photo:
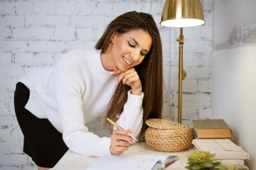
[[[165,119],[148,119],[145,132],[148,146],[161,152],[179,152],[192,144],[192,130],[180,123]]]

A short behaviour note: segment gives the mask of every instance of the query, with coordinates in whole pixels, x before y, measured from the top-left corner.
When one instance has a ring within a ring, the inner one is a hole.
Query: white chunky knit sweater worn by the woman
[[[25,108],[38,118],[49,119],[76,153],[110,154],[110,138],[89,132],[86,124],[105,116],[116,88],[117,75],[106,71],[99,50],[71,51],[54,68],[39,68],[20,79],[30,90]],[[128,99],[117,123],[137,136],[142,127],[144,94]]]

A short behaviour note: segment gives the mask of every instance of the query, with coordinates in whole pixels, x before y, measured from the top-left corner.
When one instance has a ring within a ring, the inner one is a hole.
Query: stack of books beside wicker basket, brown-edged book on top
[[[199,151],[216,153],[215,159],[223,165],[240,165],[250,158],[240,146],[233,143],[233,132],[223,119],[192,120],[195,139],[192,144]]]

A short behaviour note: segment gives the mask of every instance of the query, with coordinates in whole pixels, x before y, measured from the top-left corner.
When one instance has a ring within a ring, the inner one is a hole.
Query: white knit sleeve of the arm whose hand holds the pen
[[[69,54],[70,55],[70,54]],[[71,58],[68,56],[66,58]],[[81,94],[84,81],[81,81],[79,67],[73,61],[63,59],[54,70],[55,95],[63,130],[63,140],[67,147],[76,153],[89,156],[102,156],[109,152],[110,138],[99,137],[89,132],[84,125]]]

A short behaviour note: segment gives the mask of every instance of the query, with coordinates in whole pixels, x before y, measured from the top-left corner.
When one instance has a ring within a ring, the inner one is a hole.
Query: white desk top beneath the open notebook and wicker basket
[[[158,152],[155,150],[152,150],[148,147],[148,145],[145,142],[138,142],[136,144],[133,144],[129,148],[128,151],[136,151],[136,152],[143,152],[143,153],[152,153],[152,154],[167,154],[167,155],[177,155],[179,159],[172,163],[171,165],[167,166],[165,170],[187,170],[185,169],[185,166],[187,166],[188,162],[188,155],[193,152],[193,148],[189,148],[185,151],[181,152],[174,152],[174,153],[166,153],[166,152]],[[90,165],[92,165],[98,157],[90,157],[81,155],[78,153],[74,153],[70,150],[68,150],[62,158],[59,160],[59,162],[56,164],[54,168],[51,170],[86,170]]]

